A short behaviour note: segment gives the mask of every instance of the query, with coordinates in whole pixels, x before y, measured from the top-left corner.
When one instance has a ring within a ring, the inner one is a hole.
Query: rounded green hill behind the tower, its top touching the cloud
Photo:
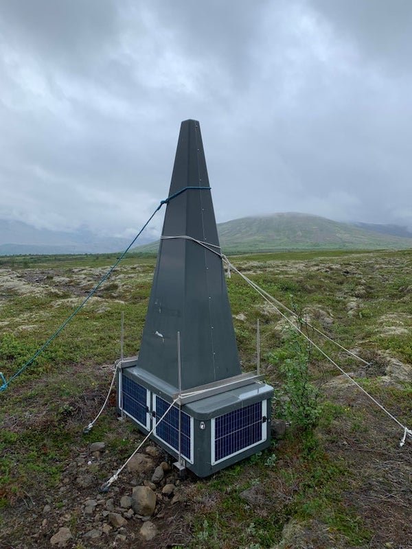
[[[218,233],[225,253],[412,248],[412,235],[403,237],[390,232],[384,234],[383,231],[371,231],[355,224],[336,222],[307,213],[275,213],[235,219],[219,223]],[[154,242],[135,250],[156,252],[158,246],[159,243]]]

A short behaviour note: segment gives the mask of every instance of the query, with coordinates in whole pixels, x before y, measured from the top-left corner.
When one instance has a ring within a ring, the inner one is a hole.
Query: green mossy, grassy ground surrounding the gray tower
[[[73,312],[114,260],[114,255],[1,258],[0,370],[6,378]],[[403,423],[412,424],[411,251],[304,251],[232,261],[288,307],[356,349],[369,366],[324,345]],[[154,265],[153,257],[128,257],[36,364],[0,393],[1,547],[48,547],[62,524],[78,534],[73,547],[88,547],[81,541],[78,501],[95,497],[141,437],[128,422],[116,420],[113,406],[91,434],[81,432],[104,400],[109,365],[119,356],[122,312],[125,354],[139,350]],[[281,388],[279,361],[290,353],[285,321],[238,276],[227,284],[244,370],[255,367],[260,318],[263,371],[266,381]],[[312,356],[310,374],[321,387],[323,406],[315,432],[302,434],[291,425],[266,452],[206,480],[185,480],[185,502],[173,512],[165,508],[156,519],[153,547],[409,546],[411,443],[400,449],[396,424],[321,355]],[[275,401],[278,412],[276,406]],[[73,462],[87,456],[89,443],[97,440],[106,441],[108,452],[92,471],[95,483],[69,490]],[[119,480],[119,495],[128,480],[127,475]],[[245,490],[251,500],[244,499]],[[46,518],[45,504],[52,506]],[[138,545],[128,537],[122,546]]]

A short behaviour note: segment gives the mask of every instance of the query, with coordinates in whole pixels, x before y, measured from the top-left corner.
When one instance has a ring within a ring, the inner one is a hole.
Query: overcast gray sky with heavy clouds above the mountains
[[[3,1],[0,218],[133,235],[195,118],[218,222],[412,228],[411,36],[410,0]]]

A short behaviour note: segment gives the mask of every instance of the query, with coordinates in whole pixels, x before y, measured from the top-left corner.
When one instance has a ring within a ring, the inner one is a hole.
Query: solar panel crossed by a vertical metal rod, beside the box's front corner
[[[170,402],[155,395],[156,421],[163,416],[169,408]],[[190,463],[193,463],[193,419],[181,412],[181,455]],[[165,415],[162,421],[156,425],[155,436],[161,439],[168,446],[179,452],[179,408],[173,406]]]

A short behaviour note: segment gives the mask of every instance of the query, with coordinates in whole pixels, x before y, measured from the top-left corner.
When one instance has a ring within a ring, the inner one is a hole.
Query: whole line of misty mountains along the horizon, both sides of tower
[[[218,223],[218,233],[225,253],[412,248],[412,233],[406,227],[344,223],[299,212],[249,215]],[[113,253],[124,250],[129,243],[125,238],[95,235],[84,227],[72,232],[50,231],[24,222],[0,220],[0,255]],[[133,252],[156,253],[158,246],[159,240],[136,246]]]

